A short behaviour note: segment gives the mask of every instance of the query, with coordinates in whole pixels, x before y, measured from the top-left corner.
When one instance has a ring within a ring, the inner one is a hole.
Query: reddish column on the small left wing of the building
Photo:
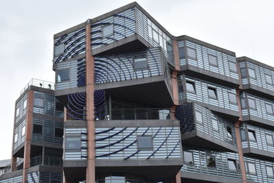
[[[32,143],[32,121],[34,112],[34,91],[27,92],[27,123],[25,132],[24,164],[22,182],[27,182],[27,169],[29,169],[30,148]]]

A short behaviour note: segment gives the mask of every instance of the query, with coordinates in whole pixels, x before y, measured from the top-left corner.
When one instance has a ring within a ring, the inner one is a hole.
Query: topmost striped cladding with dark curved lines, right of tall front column
[[[103,27],[113,25],[113,34],[103,36]],[[102,21],[91,25],[92,49],[108,45],[116,40],[121,40],[136,34],[135,8],[114,14]]]

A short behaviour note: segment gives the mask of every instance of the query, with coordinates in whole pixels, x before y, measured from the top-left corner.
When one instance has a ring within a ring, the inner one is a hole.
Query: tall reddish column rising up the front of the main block
[[[86,121],[88,123],[88,167],[86,182],[95,182],[94,58],[90,41],[90,22],[86,25]]]

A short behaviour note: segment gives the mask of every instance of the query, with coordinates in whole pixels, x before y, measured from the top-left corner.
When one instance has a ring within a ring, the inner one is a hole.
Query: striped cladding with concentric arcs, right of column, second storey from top
[[[147,56],[147,68],[134,69],[134,58],[138,56]],[[95,84],[162,75],[163,62],[158,47],[119,55],[98,56],[95,57]]]

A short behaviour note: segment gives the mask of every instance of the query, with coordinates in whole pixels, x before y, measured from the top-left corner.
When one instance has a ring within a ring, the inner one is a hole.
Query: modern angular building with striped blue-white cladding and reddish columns
[[[1,183],[274,182],[273,67],[134,2],[55,34],[53,71],[16,101]]]

